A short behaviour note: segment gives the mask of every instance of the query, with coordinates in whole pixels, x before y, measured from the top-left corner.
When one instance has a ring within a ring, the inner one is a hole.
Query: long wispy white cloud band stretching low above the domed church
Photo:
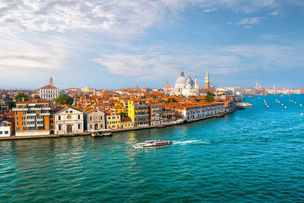
[[[158,51],[158,50],[162,51]],[[219,75],[246,73],[253,69],[285,69],[304,61],[301,52],[282,45],[244,45],[206,48],[208,51],[178,50],[164,47],[143,48],[132,53],[102,54],[93,59],[114,75],[134,80],[157,80],[185,68],[189,73],[204,74],[207,68]],[[149,51],[150,50],[150,51]],[[171,50],[171,51],[169,51]],[[168,54],[170,53],[170,54]]]

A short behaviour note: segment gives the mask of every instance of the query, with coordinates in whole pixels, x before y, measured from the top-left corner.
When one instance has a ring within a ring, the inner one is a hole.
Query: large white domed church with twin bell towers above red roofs
[[[190,96],[197,94],[199,90],[199,80],[195,77],[195,81],[191,80],[191,76],[188,79],[185,77],[183,69],[181,69],[180,76],[176,79],[174,85],[174,94],[183,94],[184,96]],[[192,93],[192,94],[191,94]]]

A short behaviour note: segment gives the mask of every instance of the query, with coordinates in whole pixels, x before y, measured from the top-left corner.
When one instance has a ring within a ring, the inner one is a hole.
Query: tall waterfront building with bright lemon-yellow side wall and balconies
[[[134,127],[149,126],[149,105],[142,99],[128,101],[128,114],[134,121]]]

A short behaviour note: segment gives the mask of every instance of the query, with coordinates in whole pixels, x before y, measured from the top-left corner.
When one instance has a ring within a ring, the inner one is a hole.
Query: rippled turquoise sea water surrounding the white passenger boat
[[[304,202],[304,95],[245,101],[162,129],[1,141],[0,202]],[[174,144],[131,148],[154,139]]]

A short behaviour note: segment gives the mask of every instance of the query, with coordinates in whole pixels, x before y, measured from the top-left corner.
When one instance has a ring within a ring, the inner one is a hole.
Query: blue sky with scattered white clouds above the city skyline
[[[0,88],[304,87],[304,2],[0,0]]]

